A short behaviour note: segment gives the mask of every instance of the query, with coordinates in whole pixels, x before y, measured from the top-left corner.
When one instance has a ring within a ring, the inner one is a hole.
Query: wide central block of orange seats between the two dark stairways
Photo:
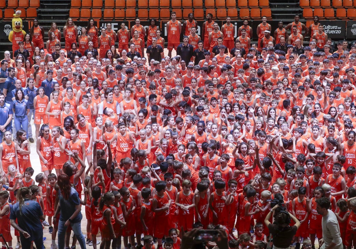
[[[74,20],[84,21],[90,17],[95,20],[134,20],[139,17],[168,21],[172,11],[176,12],[178,20],[186,19],[191,12],[196,20],[204,20],[209,13],[218,20],[224,20],[226,15],[234,19],[260,19],[261,15],[266,15],[271,19],[269,0],[71,0],[69,13]]]

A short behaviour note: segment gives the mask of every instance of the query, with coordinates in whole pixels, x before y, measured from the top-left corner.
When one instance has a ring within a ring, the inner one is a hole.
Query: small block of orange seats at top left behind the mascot
[[[22,19],[33,20],[37,17],[39,6],[40,0],[0,0],[0,19],[11,20],[15,11],[21,10]]]

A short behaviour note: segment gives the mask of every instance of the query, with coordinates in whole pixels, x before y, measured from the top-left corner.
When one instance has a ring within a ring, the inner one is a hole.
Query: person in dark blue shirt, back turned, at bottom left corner
[[[22,248],[30,248],[32,241],[36,248],[44,248],[41,219],[44,220],[46,216],[43,215],[40,204],[31,200],[32,192],[28,187],[20,188],[17,197],[19,201],[11,208],[10,223],[20,232]]]

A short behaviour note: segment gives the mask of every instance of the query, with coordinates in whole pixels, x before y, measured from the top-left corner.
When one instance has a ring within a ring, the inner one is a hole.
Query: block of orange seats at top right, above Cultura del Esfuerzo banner
[[[356,0],[300,0],[299,6],[305,19],[356,19]]]

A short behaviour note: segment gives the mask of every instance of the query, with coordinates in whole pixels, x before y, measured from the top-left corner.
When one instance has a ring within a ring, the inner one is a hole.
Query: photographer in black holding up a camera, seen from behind
[[[283,202],[283,196],[281,200],[278,200],[278,195],[275,199],[271,201],[271,211],[267,214],[265,219],[265,224],[268,227],[269,233],[273,237],[273,249],[290,249],[290,243],[293,239],[297,229],[300,226],[300,222],[293,214],[286,211]],[[274,203],[273,203],[274,202]],[[269,222],[272,214],[274,213],[274,223]],[[294,226],[290,227],[290,221],[293,219],[295,222]]]

